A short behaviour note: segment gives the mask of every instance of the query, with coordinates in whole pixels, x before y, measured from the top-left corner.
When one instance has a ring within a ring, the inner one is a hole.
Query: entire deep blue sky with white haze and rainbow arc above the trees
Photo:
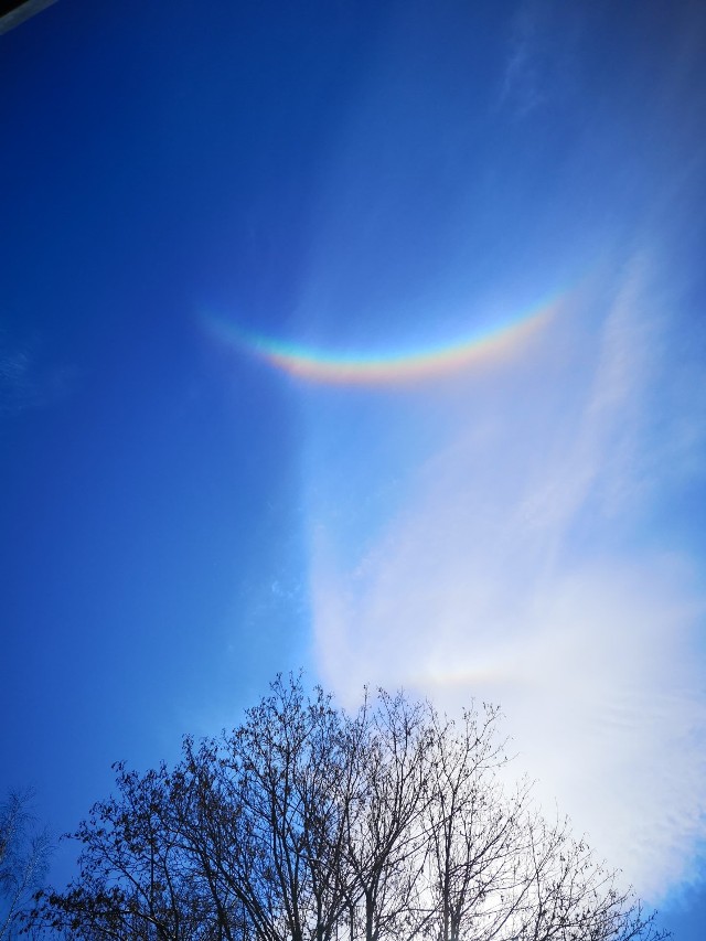
[[[697,941],[704,6],[194,11],[0,36],[0,791],[278,671],[475,697]]]

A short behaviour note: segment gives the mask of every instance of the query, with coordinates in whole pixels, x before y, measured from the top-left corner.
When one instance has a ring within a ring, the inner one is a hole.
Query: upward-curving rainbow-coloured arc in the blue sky
[[[450,375],[501,359],[542,330],[558,306],[559,297],[554,296],[512,319],[477,328],[452,343],[387,352],[335,351],[287,342],[250,333],[222,319],[210,319],[210,325],[228,345],[299,379],[331,385],[391,385]]]

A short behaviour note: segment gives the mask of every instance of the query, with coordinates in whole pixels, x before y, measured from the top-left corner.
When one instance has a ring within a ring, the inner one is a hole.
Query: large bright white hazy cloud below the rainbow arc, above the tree
[[[500,702],[518,770],[652,898],[706,836],[704,586],[651,530],[689,425],[655,424],[655,382],[672,394],[655,297],[635,257],[528,362],[439,395],[446,446],[409,472],[374,545],[355,557],[314,502],[311,573],[328,683],[349,699],[368,682],[449,708]]]

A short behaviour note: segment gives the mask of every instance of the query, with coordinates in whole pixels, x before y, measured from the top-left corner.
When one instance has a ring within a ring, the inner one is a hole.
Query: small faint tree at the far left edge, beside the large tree
[[[32,894],[46,876],[52,841],[31,813],[32,791],[11,791],[0,804],[0,941],[13,938]]]

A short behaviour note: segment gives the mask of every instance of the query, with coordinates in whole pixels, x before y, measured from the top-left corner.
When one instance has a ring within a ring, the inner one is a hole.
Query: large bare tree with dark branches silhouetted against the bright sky
[[[496,708],[459,721],[381,692],[347,714],[278,677],[243,725],[117,792],[31,926],[98,939],[659,941],[614,873],[546,821]]]

